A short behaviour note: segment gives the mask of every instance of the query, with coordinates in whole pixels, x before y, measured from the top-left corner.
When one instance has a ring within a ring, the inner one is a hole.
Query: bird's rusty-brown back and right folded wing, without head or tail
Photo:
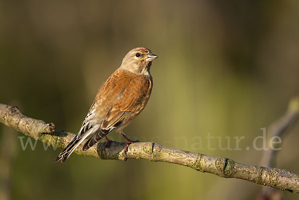
[[[97,109],[103,116],[100,129],[84,145],[87,150],[118,127],[124,127],[146,106],[152,88],[149,76],[116,70],[100,89]],[[109,102],[109,103],[107,103]],[[105,111],[103,111],[103,108]]]

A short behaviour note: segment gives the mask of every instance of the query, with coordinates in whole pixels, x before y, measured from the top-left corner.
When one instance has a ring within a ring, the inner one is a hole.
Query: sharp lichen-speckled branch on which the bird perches
[[[294,108],[298,115],[299,102],[297,102],[297,107],[294,106]],[[26,117],[17,107],[4,104],[0,104],[0,122],[35,140],[59,148],[65,148],[75,136],[72,133],[55,129],[52,123],[46,124],[41,120]],[[123,151],[125,143],[112,142],[106,151],[104,151],[104,146],[105,143],[99,143],[97,147],[92,147],[87,151],[82,151],[82,146],[79,146],[75,153],[100,159],[123,161],[127,159],[146,159],[155,162],[173,163],[219,177],[242,179],[279,190],[299,193],[299,174],[282,169],[240,164],[229,158],[211,157],[165,147],[152,142],[133,143],[129,146],[127,153]]]

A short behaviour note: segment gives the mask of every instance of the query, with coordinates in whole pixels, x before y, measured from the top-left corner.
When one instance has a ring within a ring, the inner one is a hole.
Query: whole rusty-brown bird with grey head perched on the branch
[[[130,50],[121,66],[107,79],[98,91],[78,134],[54,160],[65,162],[73,151],[89,136],[83,146],[88,150],[105,138],[105,149],[109,147],[109,133],[116,131],[126,139],[125,153],[130,140],[123,132],[145,108],[152,90],[150,66],[158,56],[148,48],[138,47]]]

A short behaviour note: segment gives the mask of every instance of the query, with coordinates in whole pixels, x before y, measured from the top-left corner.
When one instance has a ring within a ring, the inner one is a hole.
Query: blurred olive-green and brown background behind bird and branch
[[[299,93],[298,18],[295,0],[0,0],[0,103],[76,133],[125,54],[145,46],[159,56],[153,90],[126,135],[259,165],[263,152],[245,147]],[[283,139],[276,167],[299,173],[298,131],[299,124]],[[231,137],[232,148],[233,137],[245,136],[242,150],[221,151],[213,140],[209,151],[209,133],[223,137],[223,147]],[[37,142],[22,151],[18,136],[0,124],[8,161],[0,190],[13,200],[252,200],[263,188],[144,160],[72,155],[53,164],[60,149]],[[198,136],[203,150],[195,148]]]

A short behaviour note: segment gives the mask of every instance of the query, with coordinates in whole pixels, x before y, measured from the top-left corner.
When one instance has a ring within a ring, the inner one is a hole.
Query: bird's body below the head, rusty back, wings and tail
[[[67,160],[88,136],[87,150],[111,131],[129,124],[146,106],[152,88],[151,76],[116,70],[99,90],[83,124],[55,162]]]

